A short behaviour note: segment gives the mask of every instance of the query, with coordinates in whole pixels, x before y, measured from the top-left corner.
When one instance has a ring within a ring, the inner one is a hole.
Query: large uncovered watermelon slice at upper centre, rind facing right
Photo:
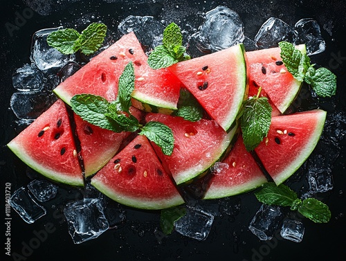
[[[168,69],[228,131],[246,94],[244,46],[238,44],[216,53],[179,62]]]

